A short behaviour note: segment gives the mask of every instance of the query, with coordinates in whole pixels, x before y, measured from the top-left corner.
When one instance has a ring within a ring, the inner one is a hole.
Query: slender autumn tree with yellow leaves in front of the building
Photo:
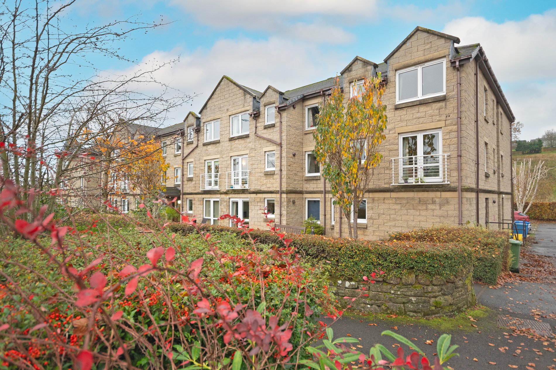
[[[369,186],[373,170],[382,159],[378,152],[385,139],[388,118],[382,97],[384,86],[378,77],[353,84],[353,97],[344,105],[344,92],[336,78],[331,96],[319,104],[313,153],[321,175],[329,182],[334,204],[349,220],[350,237],[357,238],[358,209]],[[352,207],[353,206],[353,207]]]

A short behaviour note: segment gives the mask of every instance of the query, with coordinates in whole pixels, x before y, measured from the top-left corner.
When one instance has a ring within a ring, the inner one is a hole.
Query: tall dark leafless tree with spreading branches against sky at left
[[[169,111],[191,99],[153,77],[175,61],[139,64],[118,48],[134,34],[165,23],[132,17],[66,27],[75,2],[0,4],[0,142],[36,153],[6,152],[0,166],[3,177],[23,189],[59,187],[71,159],[87,152],[98,137],[130,123],[160,126]],[[125,62],[132,72],[101,71],[91,62],[98,57]],[[147,89],[148,94],[141,93]],[[43,154],[54,151],[63,155],[47,163],[53,156]]]

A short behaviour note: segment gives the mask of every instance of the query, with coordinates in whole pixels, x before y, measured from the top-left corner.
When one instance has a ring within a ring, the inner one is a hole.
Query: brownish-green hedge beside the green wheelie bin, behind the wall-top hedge
[[[457,243],[473,252],[473,278],[496,284],[508,256],[508,233],[480,227],[431,227],[394,233],[391,240],[428,243]]]

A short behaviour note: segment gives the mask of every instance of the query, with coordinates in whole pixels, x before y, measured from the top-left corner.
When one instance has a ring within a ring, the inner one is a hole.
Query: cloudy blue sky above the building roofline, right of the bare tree
[[[157,78],[200,94],[171,117],[198,111],[222,74],[262,91],[335,76],[359,55],[380,63],[415,26],[479,42],[503,86],[524,139],[556,128],[556,3],[553,1],[365,0],[81,0],[68,22],[103,23],[137,16],[173,22],[137,33],[118,47],[138,62],[178,58]],[[68,23],[68,24],[69,24]],[[131,72],[130,63],[98,57],[95,67]]]

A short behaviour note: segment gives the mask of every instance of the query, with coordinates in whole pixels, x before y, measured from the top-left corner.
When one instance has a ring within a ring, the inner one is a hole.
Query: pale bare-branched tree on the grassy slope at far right
[[[539,181],[547,177],[548,170],[544,166],[544,161],[533,163],[532,159],[525,159],[523,162],[514,161],[514,200],[517,205],[517,211],[527,213],[537,190]],[[527,208],[525,203],[529,203]]]

